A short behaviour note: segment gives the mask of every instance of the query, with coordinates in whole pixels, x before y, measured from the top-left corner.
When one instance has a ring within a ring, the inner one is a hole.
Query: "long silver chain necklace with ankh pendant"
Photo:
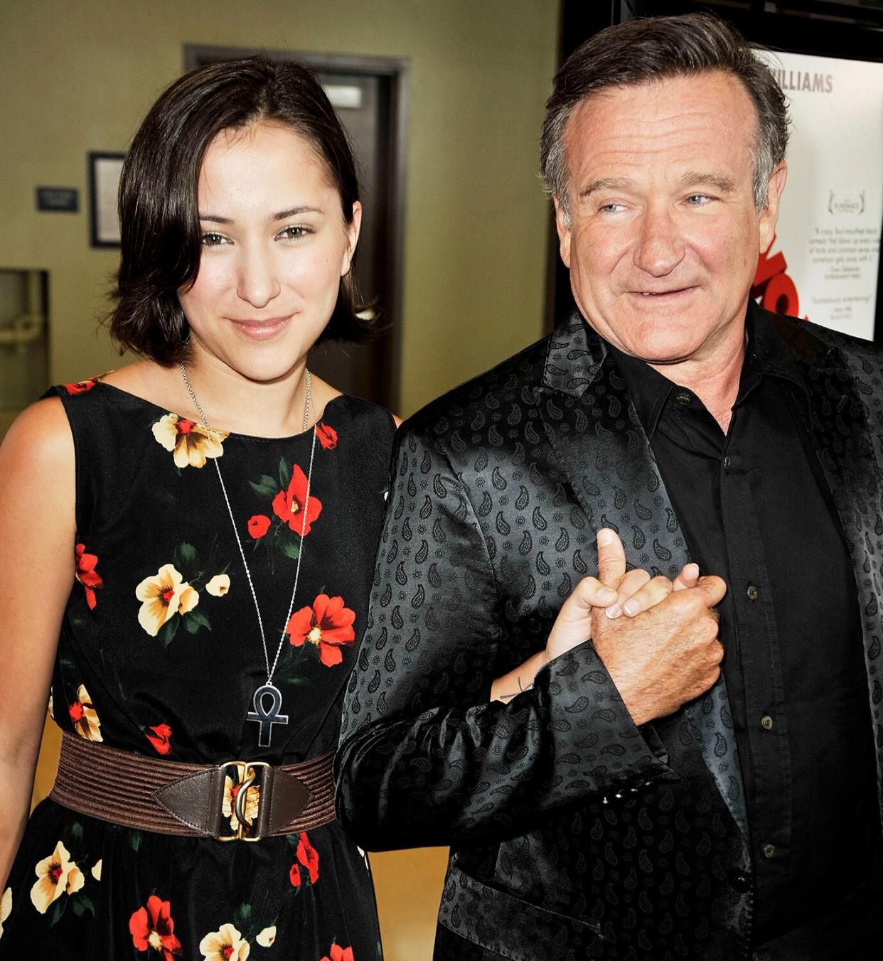
[[[307,380],[307,397],[304,400],[304,431],[307,431],[307,426],[309,425],[309,420],[312,415],[312,380],[309,376],[309,371],[305,368],[305,375]],[[202,418],[203,427],[207,431],[213,431],[211,425],[208,423],[208,417],[206,417],[206,412],[203,410],[202,405],[199,403],[199,399],[196,396],[196,391],[193,389],[193,384],[190,383],[190,378],[187,377],[187,368],[184,363],[181,364],[181,376],[184,379],[184,386],[187,388],[187,393],[190,395],[190,400],[193,401],[193,406],[199,411],[199,416]],[[213,431],[217,432],[217,431]],[[268,748],[270,746],[270,740],[273,736],[273,725],[288,724],[288,715],[281,714],[280,709],[282,708],[282,692],[273,683],[273,675],[276,673],[276,665],[279,663],[279,655],[282,653],[282,644],[285,641],[285,628],[288,627],[288,621],[291,618],[291,612],[294,610],[294,599],[298,592],[298,581],[301,578],[301,561],[304,559],[304,531],[307,530],[307,510],[309,509],[309,490],[310,482],[312,480],[312,465],[313,457],[316,453],[316,422],[313,422],[312,426],[312,443],[309,448],[309,470],[307,471],[307,496],[304,498],[304,510],[303,510],[303,521],[301,523],[301,550],[298,553],[297,567],[294,571],[294,587],[291,591],[291,600],[288,603],[288,613],[285,615],[285,620],[282,622],[282,637],[279,639],[279,645],[276,648],[276,656],[273,658],[273,664],[270,665],[270,653],[267,650],[267,639],[263,630],[263,618],[260,616],[260,606],[258,605],[258,595],[255,592],[255,584],[252,581],[252,572],[249,570],[248,561],[245,559],[245,551],[242,548],[242,540],[239,537],[239,530],[236,527],[236,521],[233,517],[233,507],[230,505],[230,498],[227,495],[227,486],[224,483],[224,478],[221,476],[221,467],[218,464],[218,458],[212,457],[212,462],[214,463],[214,469],[218,473],[218,480],[221,482],[221,491],[224,494],[224,503],[227,505],[227,512],[230,514],[230,523],[233,525],[233,534],[236,538],[236,546],[239,548],[239,556],[242,558],[242,566],[245,569],[245,577],[248,580],[249,588],[252,592],[252,600],[255,602],[255,613],[258,615],[258,628],[260,630],[260,643],[263,647],[263,660],[267,669],[267,679],[266,682],[261,684],[260,687],[255,691],[255,698],[252,702],[253,709],[246,714],[246,721],[255,721],[260,725],[260,730],[258,733],[258,745],[261,748]],[[270,709],[267,710],[264,704],[264,698],[270,698]]]

